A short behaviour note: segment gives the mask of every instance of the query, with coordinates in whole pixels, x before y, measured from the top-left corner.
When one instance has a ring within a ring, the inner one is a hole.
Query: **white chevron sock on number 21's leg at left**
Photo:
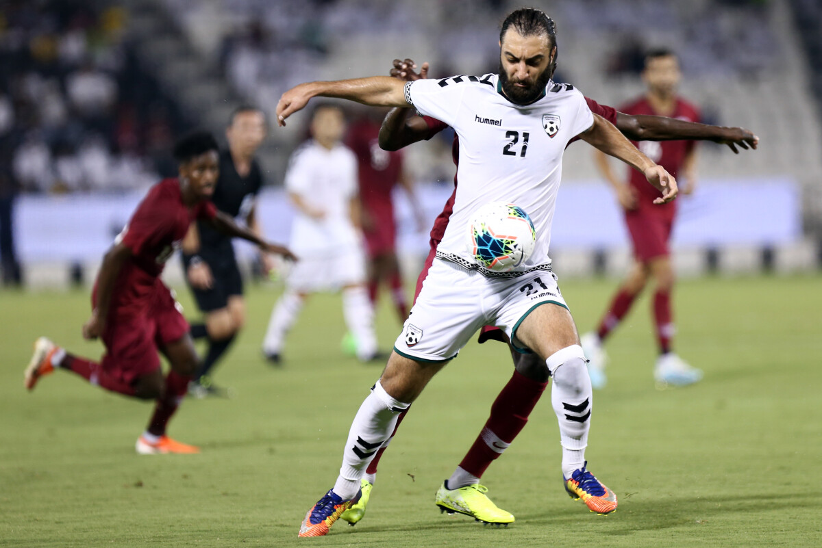
[[[349,439],[345,442],[343,465],[334,484],[334,492],[343,500],[357,495],[365,469],[374,459],[376,451],[394,432],[399,413],[408,409],[409,405],[392,398],[380,381],[376,381],[371,394],[360,405],[351,423]]]

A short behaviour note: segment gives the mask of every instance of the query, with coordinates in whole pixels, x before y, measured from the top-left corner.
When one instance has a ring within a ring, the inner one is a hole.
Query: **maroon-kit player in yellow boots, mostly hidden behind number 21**
[[[427,63],[423,64],[419,74],[413,71],[414,68],[416,68],[416,65],[411,59],[395,60],[394,68],[390,71],[390,74],[401,80],[416,80],[427,77]],[[734,153],[738,153],[737,147],[756,148],[759,142],[759,139],[750,131],[738,127],[706,126],[663,116],[629,115],[624,112],[617,112],[613,107],[600,105],[590,98],[586,98],[586,101],[591,112],[603,116],[607,121],[617,126],[617,129],[629,139],[636,141],[704,139],[727,144]],[[380,146],[388,150],[403,148],[423,139],[431,139],[446,127],[448,127],[446,124],[430,116],[414,115],[409,108],[395,108],[389,112],[385,121],[383,121]],[[455,163],[459,162],[458,151],[459,145],[455,136],[452,147]],[[456,176],[454,184],[455,186],[457,184]],[[420,272],[417,290],[414,294],[415,299],[422,288],[428,268],[432,266],[436,246],[445,234],[454,207],[455,194],[456,189],[447,200],[445,208],[434,221],[430,240],[431,251],[428,253],[423,272]],[[467,514],[484,523],[510,523],[514,521],[514,516],[503,509],[497,508],[488,499],[485,495],[487,490],[479,485],[479,480],[488,466],[510,446],[514,438],[525,427],[531,411],[547,387],[549,374],[545,363],[535,357],[534,354],[520,354],[511,347],[510,341],[500,329],[483,327],[479,335],[479,342],[483,343],[486,340],[500,340],[509,343],[511,358],[513,358],[515,365],[514,375],[492,404],[491,416],[485,423],[482,432],[479,433],[462,462],[459,463],[455,472],[447,480],[446,484],[451,493],[459,491],[458,495],[463,500],[463,507],[453,508],[441,504],[441,501],[438,500],[439,491],[437,492],[436,504],[446,511]],[[405,413],[408,413],[408,409],[399,415],[397,428],[399,428]],[[377,464],[392,438],[393,435],[381,445],[374,459],[368,465],[362,483],[363,495],[359,502],[340,516],[351,525],[358,523],[365,514],[373,482],[376,480]]]

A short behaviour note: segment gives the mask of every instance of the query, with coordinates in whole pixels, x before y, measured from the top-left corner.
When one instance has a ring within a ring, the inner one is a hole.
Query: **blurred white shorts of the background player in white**
[[[294,291],[314,293],[336,291],[345,285],[365,283],[365,253],[358,245],[349,245],[326,253],[298,253],[285,285]]]

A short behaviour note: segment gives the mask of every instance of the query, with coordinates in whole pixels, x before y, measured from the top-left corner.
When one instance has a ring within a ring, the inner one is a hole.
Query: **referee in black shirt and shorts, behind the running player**
[[[212,201],[220,211],[244,218],[255,234],[262,235],[255,214],[262,174],[254,154],[266,138],[266,116],[256,107],[238,107],[231,114],[225,135],[229,148],[219,154],[219,180]],[[263,253],[261,259],[269,272],[273,267],[271,258]],[[207,337],[209,343],[188,393],[198,398],[228,395],[211,382],[211,373],[246,319],[242,277],[231,239],[207,223],[196,221],[182,241],[182,263],[186,282],[203,313],[203,322],[192,322],[192,338]]]

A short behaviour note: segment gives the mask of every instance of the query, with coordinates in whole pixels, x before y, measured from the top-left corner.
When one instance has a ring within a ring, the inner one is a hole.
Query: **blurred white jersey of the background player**
[[[291,155],[285,189],[309,207],[325,212],[315,219],[297,211],[290,247],[295,253],[325,253],[359,245],[351,223],[350,203],[357,194],[357,158],[342,144],[330,150],[309,140]]]

